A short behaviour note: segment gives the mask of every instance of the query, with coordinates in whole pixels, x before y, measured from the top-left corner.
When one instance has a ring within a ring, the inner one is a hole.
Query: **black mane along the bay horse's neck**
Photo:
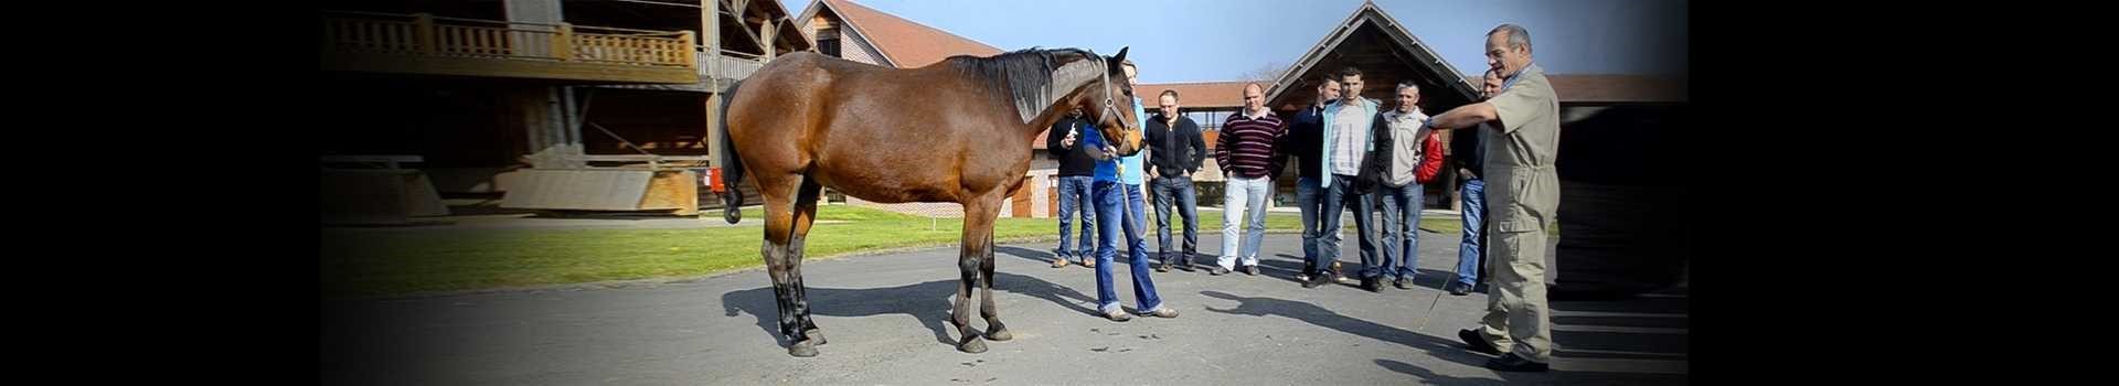
[[[1083,55],[1087,59],[1074,64],[1091,64],[1091,66],[1081,68],[1087,72],[1076,72],[1076,68],[1070,68],[1066,74],[1060,74],[1060,70],[1066,68],[1060,66],[1062,55]],[[996,95],[1009,95],[1009,102],[1015,104],[1015,110],[1017,115],[1021,115],[1023,123],[1030,123],[1030,119],[1034,119],[1038,112],[1051,106],[1051,102],[1060,100],[1060,95],[1064,95],[1066,91],[1072,91],[1083,81],[1083,76],[1102,76],[1096,70],[1108,70],[1104,68],[1102,57],[1085,49],[1030,47],[992,57],[954,55],[943,62],[956,66],[964,74],[985,81],[985,85],[992,87]],[[1055,83],[1072,83],[1072,85],[1055,85]]]

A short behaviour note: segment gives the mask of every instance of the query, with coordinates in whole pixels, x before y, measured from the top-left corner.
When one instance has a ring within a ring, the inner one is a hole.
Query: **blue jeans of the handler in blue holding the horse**
[[[1127,216],[1121,216],[1119,204],[1125,204]],[[1119,310],[1119,295],[1110,282],[1110,261],[1119,255],[1119,231],[1125,231],[1125,261],[1134,269],[1134,308],[1148,312],[1163,305],[1163,299],[1155,295],[1155,280],[1148,278],[1148,242],[1140,240],[1140,185],[1119,185],[1110,180],[1096,182],[1096,221],[1102,225],[1104,233],[1098,233],[1096,248],[1096,303],[1098,312],[1110,314]]]

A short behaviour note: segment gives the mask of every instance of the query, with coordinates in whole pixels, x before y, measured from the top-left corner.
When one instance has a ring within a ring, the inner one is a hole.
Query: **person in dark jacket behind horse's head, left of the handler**
[[[1081,146],[1083,129],[1096,125],[1074,108],[1045,134],[1045,151],[1060,159],[1060,248],[1053,248],[1053,267],[1066,267],[1070,257],[1083,267],[1096,267],[1096,195],[1089,195],[1096,159]],[[1081,246],[1068,250],[1074,212],[1081,212]]]

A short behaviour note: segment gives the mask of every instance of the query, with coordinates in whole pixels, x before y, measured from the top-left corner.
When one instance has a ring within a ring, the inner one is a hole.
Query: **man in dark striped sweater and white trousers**
[[[1271,161],[1274,144],[1286,136],[1286,123],[1265,108],[1265,87],[1244,85],[1244,115],[1231,115],[1221,125],[1214,140],[1214,161],[1227,176],[1221,212],[1221,267],[1214,274],[1235,269],[1242,257],[1242,271],[1259,276],[1259,244],[1265,242],[1265,199],[1274,195]],[[1246,210],[1250,210],[1246,214]],[[1237,216],[1248,227],[1242,250],[1237,250]]]

